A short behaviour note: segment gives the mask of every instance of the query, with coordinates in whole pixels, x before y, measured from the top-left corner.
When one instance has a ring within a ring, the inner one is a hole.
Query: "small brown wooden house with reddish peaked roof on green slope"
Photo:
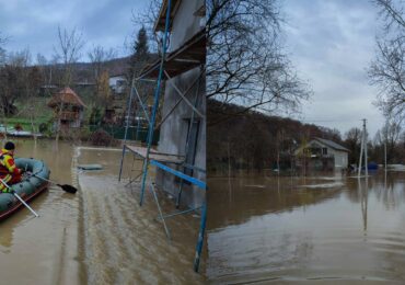
[[[85,105],[70,88],[63,88],[56,93],[48,102],[48,106],[54,110],[55,128],[58,122],[61,129],[78,128],[82,125]]]

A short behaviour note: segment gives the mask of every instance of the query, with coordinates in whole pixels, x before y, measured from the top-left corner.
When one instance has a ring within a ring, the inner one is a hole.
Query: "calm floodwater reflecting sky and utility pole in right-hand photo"
[[[405,172],[208,185],[213,283],[405,282]]]

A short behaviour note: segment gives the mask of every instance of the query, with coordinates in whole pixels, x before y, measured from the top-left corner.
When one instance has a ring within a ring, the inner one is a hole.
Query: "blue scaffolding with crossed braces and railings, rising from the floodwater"
[[[160,104],[162,81],[165,80],[165,79],[166,80],[171,79],[170,73],[165,70],[165,62],[166,62],[166,55],[167,55],[167,39],[169,39],[169,36],[170,36],[169,29],[170,29],[170,24],[171,24],[170,23],[171,4],[172,4],[172,0],[169,0],[167,1],[167,7],[166,7],[166,14],[165,14],[165,29],[164,29],[164,34],[163,34],[162,54],[161,54],[161,59],[160,59],[159,65],[155,65],[152,69],[148,70],[148,72],[144,72],[139,78],[135,78],[135,77],[132,78],[130,95],[129,95],[129,99],[128,99],[128,107],[127,107],[127,118],[128,119],[126,122],[126,132],[125,132],[125,138],[124,138],[124,146],[123,146],[123,153],[121,153],[121,161],[120,161],[120,169],[119,169],[118,180],[120,181],[121,175],[123,175],[124,158],[125,158],[125,155],[126,155],[127,151],[131,152],[134,156],[140,157],[143,160],[141,173],[138,174],[138,176],[135,180],[130,179],[129,183],[132,183],[134,181],[140,182],[140,185],[141,185],[141,187],[140,187],[140,198],[139,198],[140,206],[142,206],[142,204],[143,204],[144,191],[147,189],[147,185],[149,185],[149,189],[153,194],[154,202],[158,206],[158,210],[159,210],[159,217],[158,218],[163,223],[164,230],[165,230],[165,233],[166,233],[169,239],[170,239],[170,231],[169,231],[169,228],[165,224],[165,218],[171,218],[171,217],[175,217],[175,216],[184,215],[184,214],[188,214],[188,213],[196,213],[197,210],[199,212],[199,214],[200,214],[200,227],[199,227],[198,239],[197,239],[197,243],[196,243],[196,253],[195,253],[195,260],[194,260],[194,270],[196,272],[198,272],[200,255],[201,255],[201,250],[202,250],[202,244],[204,244],[204,235],[205,235],[205,229],[206,229],[207,195],[205,194],[204,202],[201,203],[201,205],[199,205],[197,207],[188,208],[186,210],[181,210],[181,212],[177,210],[175,213],[163,215],[160,203],[159,203],[159,198],[155,194],[155,183],[153,183],[150,175],[148,175],[149,174],[148,173],[149,172],[149,167],[152,166],[152,167],[155,167],[157,169],[160,169],[161,171],[164,171],[165,173],[170,173],[170,174],[172,174],[172,175],[174,175],[174,176],[176,176],[181,180],[181,185],[180,185],[180,190],[178,190],[177,197],[176,197],[176,207],[177,208],[178,208],[180,201],[181,201],[181,195],[182,195],[182,192],[183,192],[183,183],[185,181],[187,183],[190,183],[192,185],[195,185],[195,187],[197,190],[205,191],[205,192],[207,190],[207,185],[206,185],[205,181],[201,181],[197,178],[194,178],[194,176],[188,175],[188,174],[185,173],[187,169],[193,170],[195,172],[205,173],[204,169],[198,168],[196,166],[193,166],[194,162],[189,163],[189,161],[187,159],[188,158],[190,139],[192,139],[190,135],[187,135],[186,146],[185,146],[185,156],[184,157],[181,157],[178,155],[162,153],[162,152],[159,152],[159,151],[152,149],[152,139],[153,139],[153,134],[154,134],[155,129],[159,128],[164,122],[166,122],[167,117],[174,112],[174,110],[180,105],[181,102],[185,102],[185,104],[188,105],[192,110],[190,124],[188,126],[188,134],[190,134],[190,128],[193,127],[196,114],[200,118],[205,118],[205,115],[202,114],[202,112],[197,109],[198,100],[200,99],[199,82],[200,82],[201,78],[205,75],[205,57],[204,57],[202,61],[199,60],[197,62],[196,60],[194,60],[192,62],[193,65],[190,65],[189,60],[187,61],[188,70],[190,68],[195,68],[195,67],[199,66],[200,67],[200,73],[197,77],[197,79],[193,81],[192,86],[186,89],[186,91],[182,92],[175,86],[174,82],[170,81],[172,88],[178,94],[180,100],[175,103],[175,105],[172,107],[172,110],[170,110],[167,112],[167,114],[161,119],[161,122],[158,124],[158,126],[155,126],[157,125],[157,114],[158,114],[159,104]],[[204,36],[205,36],[205,33],[204,33]],[[192,38],[192,39],[194,41],[194,38]],[[199,38],[197,38],[197,39],[199,39]],[[184,48],[182,49],[182,52],[183,50],[184,50]],[[151,72],[153,72],[153,70],[157,70],[158,68],[159,68],[159,71],[158,71],[158,78],[157,78],[157,81],[155,81],[157,86],[155,86],[154,95],[153,95],[153,107],[152,107],[151,113],[149,114],[148,113],[148,107],[146,107],[146,104],[144,104],[144,102],[142,102],[142,98],[140,96],[140,93],[137,90],[136,82],[141,81],[141,80],[149,81],[149,79],[147,79],[146,77],[148,75],[150,76]],[[178,73],[182,73],[182,72],[178,72]],[[176,75],[178,75],[178,73],[176,73]],[[193,90],[193,88],[196,84],[197,84],[196,95],[194,98],[194,101],[190,102],[190,100],[188,100],[186,98],[186,95],[189,93],[190,90]],[[127,144],[127,133],[128,133],[128,128],[129,128],[129,124],[130,124],[129,117],[132,113],[131,105],[134,104],[132,101],[134,101],[135,98],[138,100],[138,103],[139,103],[139,105],[137,107],[137,113],[138,113],[137,116],[140,115],[139,113],[142,113],[142,116],[144,116],[144,118],[148,121],[148,125],[149,125],[147,145],[146,145],[144,148],[141,148],[141,147],[137,148],[137,147],[134,147],[134,146],[129,146]],[[176,170],[174,168],[171,168],[167,164],[177,166],[177,167],[181,168],[182,171]],[[140,176],[141,176],[141,179],[138,180]]]

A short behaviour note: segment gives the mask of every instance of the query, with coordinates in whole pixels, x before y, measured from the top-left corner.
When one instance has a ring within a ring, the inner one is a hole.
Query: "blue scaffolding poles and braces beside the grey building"
[[[158,206],[158,212],[159,212],[159,217],[158,218],[159,218],[159,220],[161,220],[163,223],[164,230],[165,230],[165,233],[166,233],[169,239],[171,239],[171,235],[170,235],[170,230],[167,228],[167,225],[165,224],[165,220],[164,220],[165,218],[170,218],[170,217],[174,217],[174,216],[178,216],[178,215],[184,215],[184,214],[192,213],[192,212],[195,212],[197,209],[200,209],[200,227],[199,227],[198,240],[197,240],[197,244],[196,244],[196,253],[195,253],[195,259],[194,259],[194,270],[196,272],[198,272],[198,266],[199,266],[200,255],[201,255],[201,250],[202,250],[202,244],[204,244],[206,219],[207,219],[207,194],[206,194],[206,192],[205,192],[205,198],[204,198],[201,205],[199,205],[198,207],[193,207],[192,209],[186,209],[186,210],[183,210],[183,212],[176,212],[176,213],[172,213],[172,214],[169,214],[169,215],[163,215],[163,212],[162,212],[162,208],[160,206],[159,198],[158,198],[158,195],[157,195],[157,192],[155,192],[157,185],[151,181],[151,176],[148,173],[150,166],[152,166],[152,167],[157,167],[157,168],[161,169],[162,171],[165,171],[166,173],[171,173],[171,174],[177,176],[182,181],[182,185],[181,185],[181,190],[180,190],[180,193],[178,193],[176,204],[180,202],[182,187],[183,187],[183,181],[187,181],[188,183],[192,183],[194,186],[196,186],[200,190],[204,190],[204,191],[207,190],[206,182],[184,173],[186,169],[193,169],[193,170],[202,171],[202,172],[205,172],[205,170],[199,169],[198,167],[192,166],[189,163],[189,161],[184,161],[184,159],[181,159],[181,160],[178,160],[176,158],[162,159],[161,155],[166,156],[166,157],[169,157],[169,156],[180,157],[180,156],[178,155],[170,155],[170,153],[159,153],[158,151],[155,151],[151,148],[152,142],[153,142],[153,133],[154,133],[154,130],[163,124],[163,122],[172,114],[172,112],[175,110],[175,107],[181,102],[185,102],[192,109],[190,125],[189,125],[189,128],[188,128],[188,135],[187,135],[186,146],[185,146],[185,152],[186,152],[185,156],[187,158],[188,152],[189,152],[189,148],[190,148],[189,147],[190,139],[192,139],[192,134],[190,134],[192,132],[190,130],[193,129],[193,126],[194,126],[195,114],[198,114],[201,118],[205,118],[205,115],[199,110],[197,110],[197,103],[198,103],[199,90],[200,90],[199,80],[200,80],[201,75],[204,73],[204,70],[205,70],[202,61],[192,60],[194,64],[200,64],[201,65],[201,69],[200,69],[201,72],[198,76],[198,78],[196,78],[193,81],[192,86],[186,89],[185,92],[182,92],[175,86],[175,83],[172,82],[172,80],[170,80],[171,77],[170,77],[169,72],[164,69],[165,68],[165,62],[166,62],[166,54],[167,54],[167,44],[166,43],[167,43],[169,36],[170,36],[169,29],[170,29],[170,13],[171,13],[172,2],[173,2],[172,0],[167,0],[167,5],[166,5],[167,10],[165,11],[165,27],[164,27],[164,35],[163,35],[163,43],[162,43],[162,56],[161,56],[160,62],[157,61],[153,69],[148,71],[148,73],[150,73],[153,70],[157,71],[158,68],[159,68],[158,77],[157,77],[157,80],[155,80],[154,94],[153,94],[153,109],[152,109],[151,112],[150,111],[148,112],[147,109],[144,107],[144,104],[142,102],[142,98],[140,96],[138,90],[136,89],[135,81],[132,79],[132,88],[131,88],[130,103],[129,104],[131,104],[131,100],[136,95],[137,99],[139,100],[139,103],[140,103],[140,107],[137,109],[137,112],[141,113],[143,111],[144,115],[147,116],[148,126],[149,126],[148,127],[148,136],[147,136],[147,146],[142,147],[142,148],[141,147],[137,148],[137,147],[134,147],[134,146],[124,145],[124,147],[123,147],[123,158],[121,158],[120,170],[119,170],[119,179],[121,176],[123,161],[124,161],[124,156],[125,156],[126,150],[140,155],[143,158],[143,164],[142,164],[142,172],[139,174],[139,176],[141,175],[141,181],[140,181],[141,182],[141,189],[140,189],[139,205],[142,206],[143,197],[144,197],[144,191],[148,187],[151,191],[151,193],[153,194],[153,198],[154,198],[154,202]],[[167,56],[167,58],[170,59],[170,55]],[[190,61],[190,60],[188,60],[188,61]],[[195,67],[197,67],[197,66],[195,66]],[[181,72],[185,72],[185,71],[181,71]],[[147,81],[149,81],[149,79],[143,78],[148,73],[144,73],[144,75],[140,76],[136,80],[147,80]],[[157,116],[158,116],[158,111],[159,111],[159,103],[160,103],[160,95],[161,95],[161,86],[162,86],[162,80],[164,80],[164,79],[170,80],[170,84],[178,93],[178,95],[181,96],[181,100],[169,112],[169,114],[165,115],[165,117],[162,119],[162,122],[155,128]],[[192,100],[188,100],[186,98],[186,94],[193,89],[193,87],[196,83],[197,83],[197,93],[196,93],[196,96],[194,99],[194,102],[192,103],[190,102]],[[144,98],[143,98],[143,100],[144,100]],[[130,107],[128,109],[128,117],[129,117],[129,115],[130,115]],[[128,128],[128,126],[127,126],[127,128]],[[127,128],[126,128],[126,132],[127,132]],[[139,121],[138,121],[137,132],[139,132]],[[137,138],[138,138],[138,134],[137,134]],[[197,139],[197,137],[196,137],[196,139]],[[125,140],[126,140],[126,138],[125,138]],[[141,150],[141,149],[143,149],[143,150]],[[165,164],[163,164],[162,162],[165,163]],[[167,167],[166,163],[174,163],[174,164],[180,166],[181,168],[183,168],[183,172]],[[194,164],[194,162],[192,162],[192,163]],[[129,183],[131,183],[131,181]]]

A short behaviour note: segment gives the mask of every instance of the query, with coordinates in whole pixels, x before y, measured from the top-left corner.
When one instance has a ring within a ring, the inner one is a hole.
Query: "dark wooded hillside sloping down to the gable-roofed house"
[[[228,157],[233,169],[273,168],[278,155],[290,157],[312,137],[343,144],[337,130],[213,100],[207,102],[207,164],[213,170],[228,168]]]

